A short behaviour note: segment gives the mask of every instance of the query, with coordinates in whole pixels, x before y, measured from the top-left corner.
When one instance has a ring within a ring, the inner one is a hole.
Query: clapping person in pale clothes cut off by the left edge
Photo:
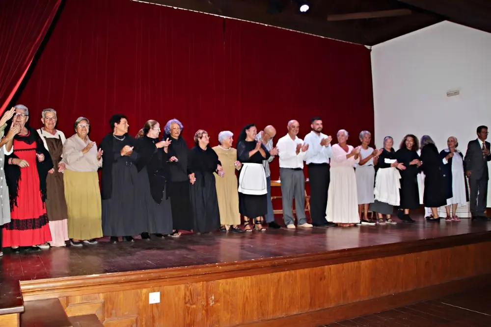
[[[5,127],[7,127],[7,121],[14,116],[15,108],[11,108],[3,113],[0,119],[0,256],[3,255],[1,252],[1,226],[10,223],[10,205],[8,201],[8,189],[7,183],[5,182],[5,173],[3,170],[5,163],[5,155],[12,153],[12,148],[10,151],[5,151],[5,144],[12,140],[14,136],[21,130],[20,126],[13,126],[8,131],[7,135],[3,137]]]

